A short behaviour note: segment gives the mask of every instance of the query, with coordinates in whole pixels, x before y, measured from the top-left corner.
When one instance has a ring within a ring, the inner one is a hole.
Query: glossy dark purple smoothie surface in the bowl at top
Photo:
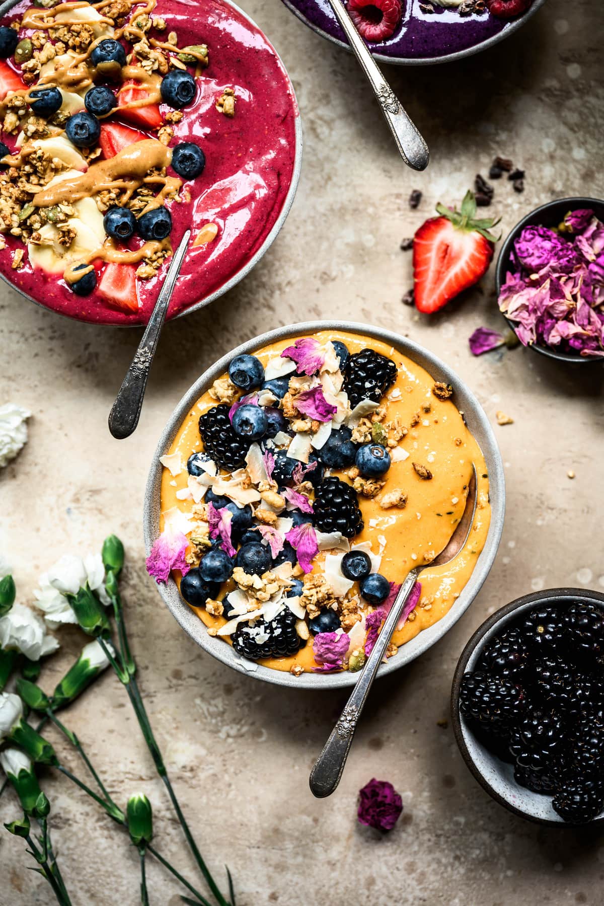
[[[283,0],[302,15],[308,24],[325,34],[348,43],[329,0]],[[385,57],[419,60],[446,57],[488,41],[517,19],[498,19],[487,11],[460,16],[456,9],[435,4],[434,13],[424,13],[421,0],[402,0],[403,13],[395,33],[386,41],[368,42],[373,53]]]

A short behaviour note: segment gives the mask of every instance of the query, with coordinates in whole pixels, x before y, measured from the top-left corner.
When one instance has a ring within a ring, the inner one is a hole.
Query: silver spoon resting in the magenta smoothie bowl
[[[187,229],[187,232],[180,240],[176,252],[172,255],[168,274],[158,295],[158,301],[151,313],[145,333],[143,333],[142,340],[139,342],[139,348],[134,354],[132,364],[126,371],[126,377],[122,381],[118,395],[109,413],[109,429],[113,437],[118,440],[129,438],[139,424],[140,410],[142,409],[142,401],[147,389],[151,363],[158,346],[161,328],[166,320],[172,291],[180,273],[180,265],[182,265],[183,258],[187,252],[190,236],[191,231]]]

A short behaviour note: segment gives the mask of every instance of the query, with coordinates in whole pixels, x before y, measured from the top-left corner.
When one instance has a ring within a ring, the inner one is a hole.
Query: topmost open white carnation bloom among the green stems
[[[40,576],[40,588],[34,591],[36,607],[43,611],[51,629],[57,629],[62,623],[77,623],[72,605],[65,595],[77,594],[88,583],[91,591],[96,592],[107,607],[110,599],[105,591],[104,579],[101,554],[88,554],[83,560],[73,554],[64,554],[48,573]]]

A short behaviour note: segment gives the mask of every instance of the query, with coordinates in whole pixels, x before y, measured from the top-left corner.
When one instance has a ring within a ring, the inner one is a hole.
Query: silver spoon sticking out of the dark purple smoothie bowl
[[[360,63],[361,69],[368,78],[373,93],[378,99],[379,108],[384,114],[384,119],[388,123],[394,140],[397,142],[401,158],[411,169],[426,169],[430,159],[430,152],[419,130],[417,130],[417,126],[410,119],[407,111],[382,75],[378,64],[369,53],[367,44],[355,28],[346,6],[341,0],[330,0],[330,4],[348,38],[352,51]]]

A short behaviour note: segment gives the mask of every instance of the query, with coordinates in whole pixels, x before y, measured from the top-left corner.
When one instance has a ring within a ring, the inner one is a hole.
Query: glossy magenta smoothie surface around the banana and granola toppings
[[[16,6],[4,23],[30,6],[29,2]],[[137,8],[131,18],[136,17]],[[206,43],[210,60],[196,80],[197,96],[174,124],[169,142],[174,148],[179,142],[195,141],[206,155],[201,175],[183,180],[179,197],[168,202],[171,246],[177,247],[189,227],[191,243],[207,224],[215,224],[218,231],[206,245],[189,246],[168,310],[168,317],[174,317],[219,290],[263,245],[292,183],[298,111],[272,45],[230,5],[221,0],[158,0],[153,12],[166,21],[167,31],[177,32],[180,46]],[[233,119],[216,111],[216,99],[229,88],[235,89]],[[163,115],[169,108],[162,103],[160,110]],[[119,121],[120,116],[112,114],[110,120]],[[2,139],[13,151],[14,136]],[[172,169],[168,174],[175,175]],[[137,279],[139,311],[125,312],[96,291],[85,297],[73,294],[60,274],[33,267],[26,254],[24,266],[13,270],[12,255],[19,243],[9,235],[5,239],[0,270],[11,284],[47,308],[94,323],[147,323],[171,260],[168,257],[150,280]],[[96,264],[98,271],[100,265]]]

